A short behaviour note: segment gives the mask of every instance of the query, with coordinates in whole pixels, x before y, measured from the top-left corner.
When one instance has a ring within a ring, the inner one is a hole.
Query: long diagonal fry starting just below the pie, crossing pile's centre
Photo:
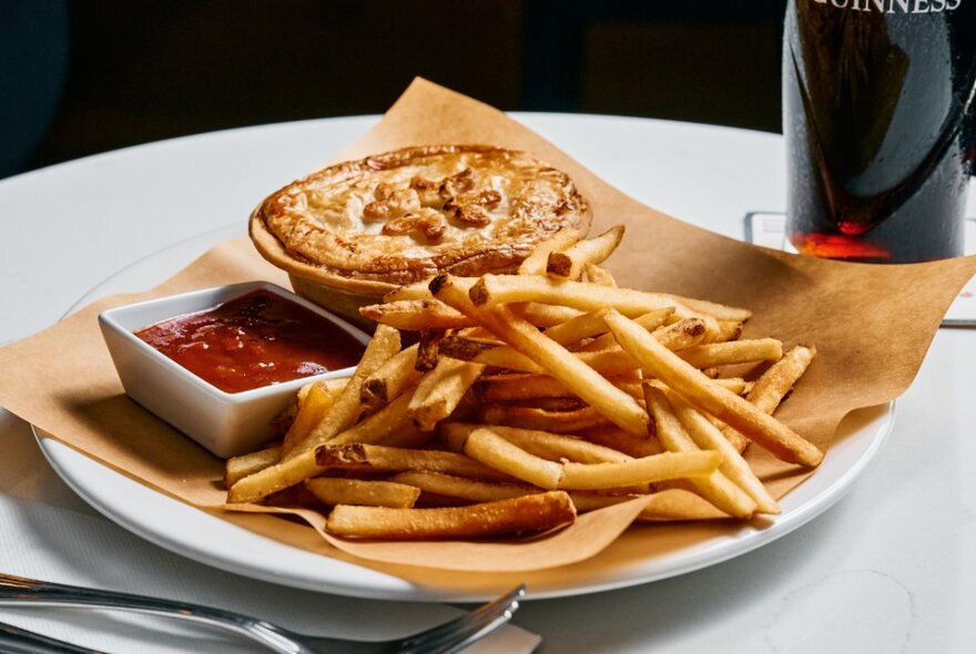
[[[486,310],[472,305],[464,288],[449,275],[436,277],[431,292],[459,311],[472,316],[489,331],[505,340],[532,361],[547,369],[590,406],[611,421],[634,433],[644,433],[648,415],[632,397],[607,381],[599,372],[579,361],[566,348],[515,316],[506,307]]]

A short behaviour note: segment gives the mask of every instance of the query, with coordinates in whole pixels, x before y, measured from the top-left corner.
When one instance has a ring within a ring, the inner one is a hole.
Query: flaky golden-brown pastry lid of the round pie
[[[514,150],[407,147],[323,168],[267,197],[251,233],[302,276],[408,284],[517,266],[590,211],[565,173]]]

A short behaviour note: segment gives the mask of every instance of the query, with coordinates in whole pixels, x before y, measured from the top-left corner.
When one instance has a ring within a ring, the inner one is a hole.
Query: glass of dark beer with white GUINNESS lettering
[[[875,263],[963,254],[976,0],[791,0],[787,235]]]

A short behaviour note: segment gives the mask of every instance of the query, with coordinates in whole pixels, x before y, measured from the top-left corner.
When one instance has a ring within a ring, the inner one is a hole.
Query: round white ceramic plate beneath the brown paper
[[[243,233],[240,225],[166,247],[120,270],[75,306],[114,293],[140,290],[185,266],[206,248]],[[72,308],[73,310],[73,308]],[[852,487],[891,433],[894,405],[856,411],[842,423],[820,469],[781,502],[763,527],[712,524],[689,542],[681,525],[648,525],[624,533],[581,563],[529,574],[408,571],[405,581],[368,568],[284,545],[149,489],[39,435],[51,466],[100,512],[140,537],[196,561],[284,585],[385,600],[480,601],[526,582],[530,597],[556,597],[648,583],[713,565],[767,544],[809,522]],[[639,538],[638,530],[654,530]],[[649,545],[650,543],[650,545]]]

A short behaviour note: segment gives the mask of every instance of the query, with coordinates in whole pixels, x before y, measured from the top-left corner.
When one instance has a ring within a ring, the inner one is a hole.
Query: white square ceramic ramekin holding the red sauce
[[[247,282],[193,290],[102,311],[99,326],[126,395],[218,457],[253,451],[273,436],[271,420],[295,398],[298,389],[318,379],[352,376],[355,368],[274,384],[242,392],[225,392],[159,352],[135,331],[167,318],[191,314],[264,288],[347,331],[359,343],[369,336],[322,307],[281,286]]]

